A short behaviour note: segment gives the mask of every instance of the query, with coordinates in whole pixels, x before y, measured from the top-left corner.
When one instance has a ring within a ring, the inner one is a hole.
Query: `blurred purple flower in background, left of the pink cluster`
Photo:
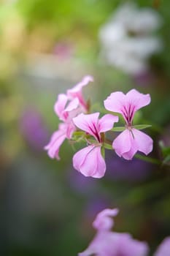
[[[28,108],[23,111],[19,125],[28,144],[36,150],[42,150],[49,136],[41,114],[36,109]]]

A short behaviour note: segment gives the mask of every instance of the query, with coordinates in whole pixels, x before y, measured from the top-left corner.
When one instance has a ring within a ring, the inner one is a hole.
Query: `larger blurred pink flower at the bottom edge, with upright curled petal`
[[[115,217],[118,210],[105,209],[101,211],[93,222],[97,234],[84,252],[79,256],[145,256],[148,246],[145,242],[137,241],[128,233],[112,232],[114,224],[111,217]]]

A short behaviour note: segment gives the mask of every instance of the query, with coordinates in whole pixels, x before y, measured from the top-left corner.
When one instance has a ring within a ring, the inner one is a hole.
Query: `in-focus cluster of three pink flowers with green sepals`
[[[141,94],[132,89],[127,94],[121,91],[113,92],[104,100],[107,110],[121,114],[125,120],[125,127],[119,127],[122,132],[112,142],[106,138],[106,132],[113,130],[119,118],[111,113],[101,118],[98,112],[89,113],[88,103],[82,97],[82,87],[90,81],[93,81],[93,78],[88,75],[66,94],[59,94],[54,110],[62,123],[45,149],[51,158],[59,159],[58,152],[63,140],[84,140],[88,146],[74,154],[73,166],[84,176],[101,178],[106,171],[105,148],[114,149],[119,157],[127,160],[132,159],[137,151],[146,155],[152,151],[152,139],[136,129],[147,126],[133,125],[136,111],[150,104],[150,94]],[[80,131],[76,132],[77,129]]]

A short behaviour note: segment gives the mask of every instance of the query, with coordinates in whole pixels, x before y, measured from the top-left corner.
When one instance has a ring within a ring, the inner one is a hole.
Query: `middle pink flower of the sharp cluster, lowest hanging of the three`
[[[92,135],[95,143],[90,143],[90,146],[82,148],[73,157],[73,166],[76,170],[80,171],[84,176],[91,176],[93,178],[101,178],[106,171],[106,163],[101,156],[101,132],[107,132],[112,129],[113,124],[118,121],[117,116],[105,115],[98,119],[99,113],[89,115],[80,114],[73,118],[74,124]]]

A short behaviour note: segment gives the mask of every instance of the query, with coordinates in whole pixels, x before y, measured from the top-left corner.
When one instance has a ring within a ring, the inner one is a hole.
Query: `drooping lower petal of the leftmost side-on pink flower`
[[[47,154],[50,158],[60,159],[58,153],[61,147],[61,144],[66,139],[66,130],[65,129],[58,129],[58,131],[54,132],[50,143],[45,146],[45,150],[47,150]]]

